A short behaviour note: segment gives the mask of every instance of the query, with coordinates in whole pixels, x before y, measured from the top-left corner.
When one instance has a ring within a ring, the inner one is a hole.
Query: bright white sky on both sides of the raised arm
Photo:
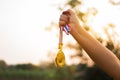
[[[107,1],[99,0],[96,3],[95,0],[86,0],[82,9],[84,11],[91,6],[99,9],[93,22],[89,22],[94,30],[99,31],[101,26],[114,22],[119,32],[120,11],[107,4]],[[40,64],[40,61],[48,61],[48,51],[53,54],[57,52],[58,38],[55,36],[57,30],[46,32],[44,29],[52,21],[58,23],[61,12],[56,6],[64,3],[65,0],[0,0],[0,60],[5,60],[7,64]]]

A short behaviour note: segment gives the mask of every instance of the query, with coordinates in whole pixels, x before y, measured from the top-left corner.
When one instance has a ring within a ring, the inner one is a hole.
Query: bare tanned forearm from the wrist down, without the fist
[[[99,41],[89,35],[82,27],[79,25],[73,26],[71,35],[93,61],[109,75],[116,77],[117,73],[120,74],[120,61],[118,58],[110,50],[102,46]]]

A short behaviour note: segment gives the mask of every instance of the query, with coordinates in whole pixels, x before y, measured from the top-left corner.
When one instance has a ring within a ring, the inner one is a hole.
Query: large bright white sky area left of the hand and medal
[[[59,11],[52,5],[58,2],[0,1],[0,59],[8,64],[39,64],[46,59],[46,53],[56,45],[56,37],[44,29],[51,21],[57,23]]]

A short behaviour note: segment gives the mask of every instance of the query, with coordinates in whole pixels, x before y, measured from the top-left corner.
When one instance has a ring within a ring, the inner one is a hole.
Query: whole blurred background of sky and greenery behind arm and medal
[[[71,35],[63,37],[66,65],[55,66],[67,9],[120,59],[120,0],[0,0],[0,80],[112,80]]]

